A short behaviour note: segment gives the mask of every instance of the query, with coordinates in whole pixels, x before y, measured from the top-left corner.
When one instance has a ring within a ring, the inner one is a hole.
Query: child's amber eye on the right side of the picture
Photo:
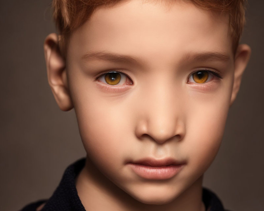
[[[214,76],[221,78],[220,74],[217,72],[213,72],[209,70],[199,70],[189,76],[187,83],[192,82],[196,84],[203,84],[211,81],[214,78]]]

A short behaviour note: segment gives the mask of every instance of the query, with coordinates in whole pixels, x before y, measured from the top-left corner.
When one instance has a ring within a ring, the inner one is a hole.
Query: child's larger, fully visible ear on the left
[[[48,73],[48,81],[59,108],[68,111],[73,108],[68,89],[65,59],[59,50],[58,35],[52,33],[44,41],[44,54]]]

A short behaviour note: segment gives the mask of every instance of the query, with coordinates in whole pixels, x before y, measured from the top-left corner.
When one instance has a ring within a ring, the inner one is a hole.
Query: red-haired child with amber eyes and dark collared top
[[[202,178],[250,57],[243,0],[53,6],[48,80],[87,157],[23,210],[224,210]]]

